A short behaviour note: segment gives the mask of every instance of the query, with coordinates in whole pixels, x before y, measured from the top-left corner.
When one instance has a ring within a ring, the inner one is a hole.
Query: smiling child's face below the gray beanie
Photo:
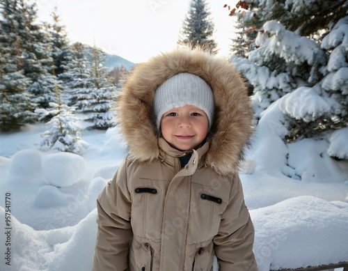
[[[166,111],[161,118],[162,136],[178,150],[191,150],[202,143],[208,125],[205,111],[191,104]]]

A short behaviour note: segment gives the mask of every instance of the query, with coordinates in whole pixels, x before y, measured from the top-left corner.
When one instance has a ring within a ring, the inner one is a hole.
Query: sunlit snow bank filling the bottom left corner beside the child
[[[91,212],[85,219],[82,219],[77,226],[67,226],[62,229],[53,229],[50,231],[35,231],[30,226],[18,222],[15,217],[11,217],[11,262],[9,270],[18,271],[39,271],[39,270],[90,270],[90,258],[93,258],[94,243],[96,238],[96,224],[95,224],[95,212]],[[5,210],[0,207],[1,222],[5,219]],[[94,223],[93,223],[94,219]],[[86,229],[87,228],[89,229]],[[4,229],[4,228],[2,228]],[[85,235],[86,234],[86,235]],[[83,235],[85,240],[81,240]],[[70,246],[76,245],[76,237],[79,237],[79,247],[74,247],[74,256],[84,254],[84,257],[79,257],[79,261],[74,261],[70,258],[60,258],[60,261],[65,261],[68,268],[51,269],[48,266],[49,263],[56,263],[57,266],[61,266],[58,263],[56,254],[63,254],[63,251],[69,249]],[[5,255],[6,247],[0,246],[1,255]],[[80,261],[81,260],[81,261]],[[71,269],[69,267],[79,264],[80,268]],[[2,261],[1,261],[1,266]],[[85,268],[87,266],[87,268]],[[6,268],[8,265],[6,265]],[[2,269],[1,269],[2,270]]]

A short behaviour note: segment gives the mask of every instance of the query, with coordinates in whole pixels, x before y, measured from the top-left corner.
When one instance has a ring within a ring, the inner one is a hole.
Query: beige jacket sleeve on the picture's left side
[[[97,212],[98,230],[93,271],[127,270],[132,227],[125,161],[98,196]]]

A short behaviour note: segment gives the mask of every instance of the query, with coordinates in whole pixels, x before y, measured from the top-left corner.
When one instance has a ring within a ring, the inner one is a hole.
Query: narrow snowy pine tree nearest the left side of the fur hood
[[[117,96],[116,86],[111,83],[109,71],[103,65],[105,58],[105,53],[94,46],[90,54],[92,65],[88,69],[92,87],[81,89],[84,93],[80,92],[80,95],[84,96],[84,100],[78,100],[77,103],[81,103],[79,112],[85,115],[84,120],[93,123],[88,127],[90,129],[106,130],[115,124],[113,107]]]

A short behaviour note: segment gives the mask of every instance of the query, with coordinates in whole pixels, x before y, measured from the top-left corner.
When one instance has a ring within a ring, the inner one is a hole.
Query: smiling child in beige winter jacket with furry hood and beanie
[[[256,271],[238,164],[253,132],[230,63],[175,49],[141,63],[118,99],[129,146],[97,199],[94,271]]]

